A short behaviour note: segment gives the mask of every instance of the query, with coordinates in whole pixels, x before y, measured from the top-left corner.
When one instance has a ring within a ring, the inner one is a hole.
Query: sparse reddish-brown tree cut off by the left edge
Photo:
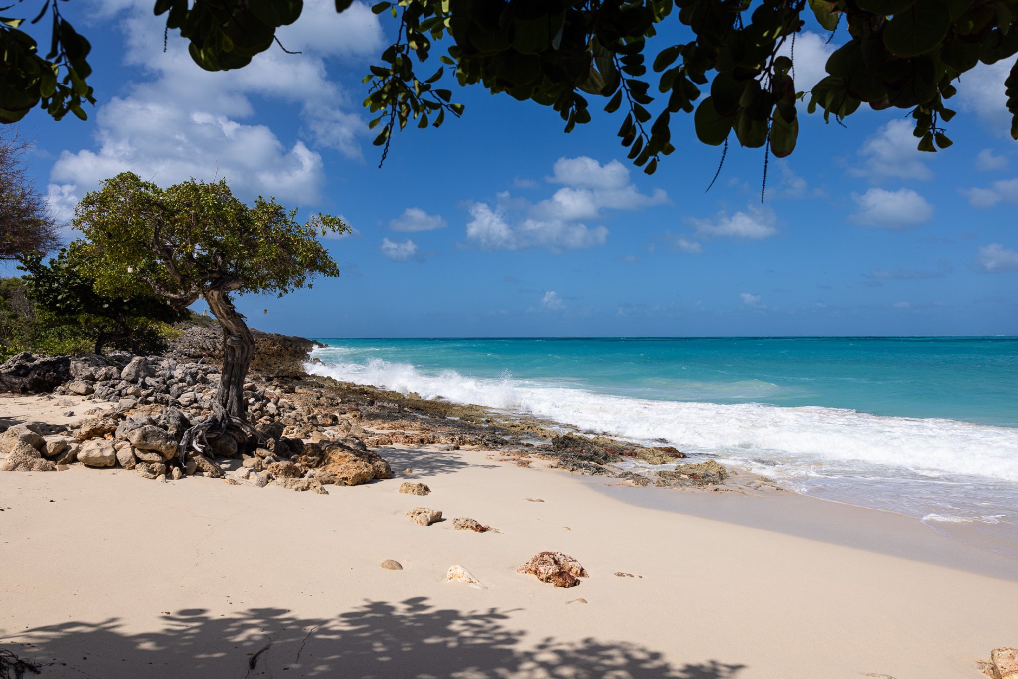
[[[29,177],[32,143],[16,131],[0,131],[0,261],[46,252],[60,244],[59,227],[46,197]]]

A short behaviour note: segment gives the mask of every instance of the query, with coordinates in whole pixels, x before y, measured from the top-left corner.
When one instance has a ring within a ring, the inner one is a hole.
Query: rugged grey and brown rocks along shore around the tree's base
[[[224,435],[181,458],[183,433],[211,411],[221,342],[211,320],[181,330],[163,356],[18,354],[0,365],[2,391],[52,399],[76,395],[96,403],[84,413],[65,412],[92,415],[69,425],[0,423],[0,470],[121,467],[159,480],[213,476],[327,493],[330,485],[392,477],[387,448],[439,446],[489,451],[490,459],[523,467],[544,460],[553,468],[630,486],[777,488],[770,478],[733,474],[711,459],[647,474],[624,470],[615,463],[629,458],[660,465],[686,456],[668,446],[582,436],[558,422],[309,375],[302,364],[314,342],[259,331],[244,397],[248,423],[263,442]]]

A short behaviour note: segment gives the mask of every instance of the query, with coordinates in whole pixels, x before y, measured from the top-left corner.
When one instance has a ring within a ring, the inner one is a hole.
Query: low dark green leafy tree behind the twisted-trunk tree
[[[80,321],[82,331],[95,338],[95,353],[103,353],[107,345],[135,353],[159,350],[163,342],[153,322],[183,321],[189,316],[186,309],[144,287],[97,292],[87,271],[87,249],[83,242],[74,241],[48,262],[39,253],[23,256],[19,269],[25,272],[22,278],[32,300],[58,318]]]

